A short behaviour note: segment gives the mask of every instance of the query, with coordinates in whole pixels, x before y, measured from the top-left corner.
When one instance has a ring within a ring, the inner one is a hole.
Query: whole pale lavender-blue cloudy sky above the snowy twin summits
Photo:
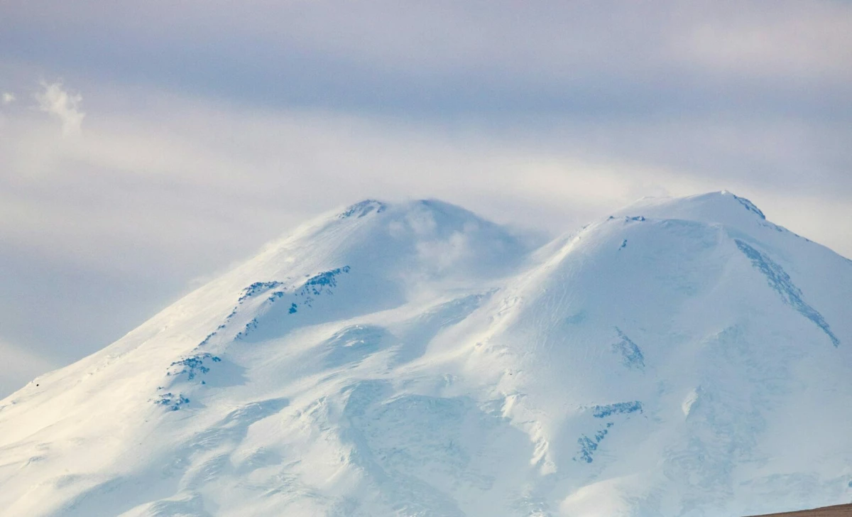
[[[298,222],[728,189],[852,256],[852,3],[0,2],[0,396]]]

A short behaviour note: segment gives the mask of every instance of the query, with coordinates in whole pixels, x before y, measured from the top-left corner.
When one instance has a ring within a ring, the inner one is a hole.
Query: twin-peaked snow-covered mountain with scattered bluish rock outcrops
[[[728,192],[541,246],[365,201],[0,401],[0,514],[848,503],[850,301],[852,261]]]

